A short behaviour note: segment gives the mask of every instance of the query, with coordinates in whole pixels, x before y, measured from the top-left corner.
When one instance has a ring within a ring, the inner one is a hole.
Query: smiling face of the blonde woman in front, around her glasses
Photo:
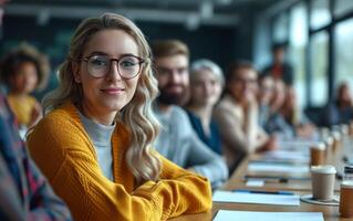
[[[138,56],[139,54],[135,40],[126,32],[102,30],[89,41],[82,59],[92,55],[104,55],[118,60],[124,55]],[[75,70],[77,71],[75,72]],[[87,71],[87,62],[82,61],[79,63],[79,69],[74,69],[74,77],[76,83],[82,84],[82,106],[89,107],[93,115],[106,115],[116,114],[131,102],[136,91],[139,74],[129,80],[123,78],[118,73],[117,62],[112,61],[105,76],[94,77]]]

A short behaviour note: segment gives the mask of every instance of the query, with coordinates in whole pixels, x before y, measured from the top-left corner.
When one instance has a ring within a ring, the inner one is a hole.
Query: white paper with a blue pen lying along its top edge
[[[237,202],[255,204],[299,206],[298,194],[248,193],[216,190],[212,197],[217,202]]]

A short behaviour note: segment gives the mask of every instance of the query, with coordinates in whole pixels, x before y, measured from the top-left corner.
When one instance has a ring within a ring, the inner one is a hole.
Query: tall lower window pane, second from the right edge
[[[314,106],[323,106],[328,101],[328,49],[329,35],[325,31],[312,35],[311,43],[311,102]]]

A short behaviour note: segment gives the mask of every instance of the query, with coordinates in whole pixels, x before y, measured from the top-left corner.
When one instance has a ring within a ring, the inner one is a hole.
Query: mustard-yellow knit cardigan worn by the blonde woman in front
[[[114,182],[100,170],[94,146],[72,104],[51,112],[28,137],[31,156],[75,220],[166,220],[211,208],[206,178],[162,156],[159,181],[134,187],[125,161],[128,133],[117,124],[113,138]]]

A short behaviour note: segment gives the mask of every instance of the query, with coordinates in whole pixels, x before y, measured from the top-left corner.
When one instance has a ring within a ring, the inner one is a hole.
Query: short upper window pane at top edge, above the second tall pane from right
[[[312,29],[322,28],[331,22],[329,0],[313,0],[310,25]]]

